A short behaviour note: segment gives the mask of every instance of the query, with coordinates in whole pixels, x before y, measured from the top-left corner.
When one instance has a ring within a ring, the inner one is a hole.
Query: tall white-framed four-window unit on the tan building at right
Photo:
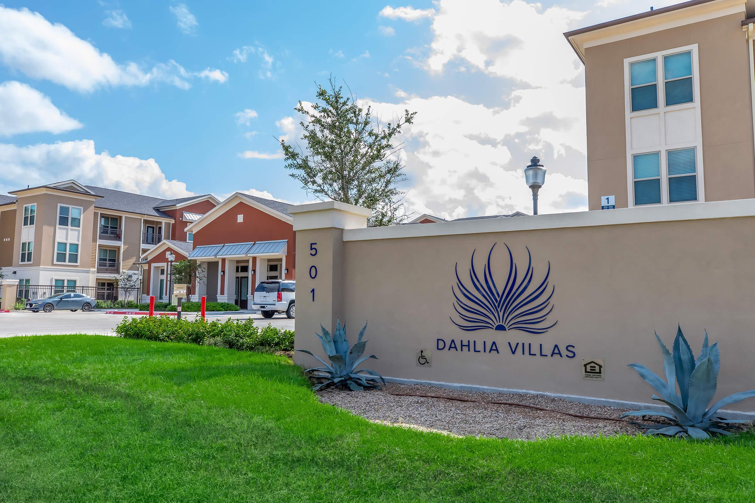
[[[704,201],[697,44],[624,60],[629,205]]]

